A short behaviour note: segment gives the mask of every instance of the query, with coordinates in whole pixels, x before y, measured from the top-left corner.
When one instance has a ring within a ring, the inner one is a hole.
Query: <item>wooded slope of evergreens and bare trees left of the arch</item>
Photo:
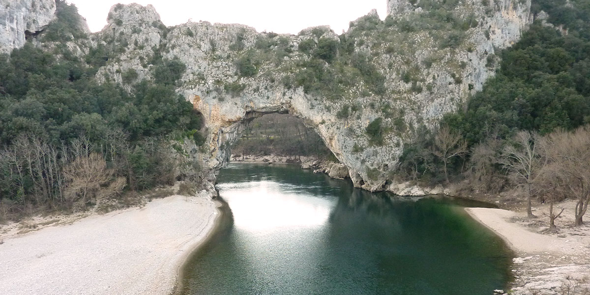
[[[77,9],[57,3],[58,19],[42,34],[57,41],[53,53],[27,43],[0,56],[0,221],[171,184],[173,171],[188,165],[172,143],[187,136],[202,143],[198,113],[175,93],[182,63],[160,61],[154,81],[131,91],[99,84],[94,64],[86,62],[93,58],[65,45],[83,36],[73,30]]]

